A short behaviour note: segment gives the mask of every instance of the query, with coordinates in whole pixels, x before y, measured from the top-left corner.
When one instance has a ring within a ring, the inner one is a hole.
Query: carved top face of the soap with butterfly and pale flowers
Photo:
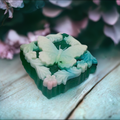
[[[67,80],[79,76],[87,67],[97,64],[86,45],[65,33],[39,36],[37,41],[24,44],[20,49],[39,78],[46,82],[52,76],[57,84],[66,84]]]

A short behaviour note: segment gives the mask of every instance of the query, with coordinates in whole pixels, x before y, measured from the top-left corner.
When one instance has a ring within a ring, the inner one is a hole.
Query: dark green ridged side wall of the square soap
[[[86,78],[88,78],[89,74],[94,73],[96,71],[96,66],[97,66],[97,64],[93,64],[90,68],[87,68],[87,70],[84,73],[81,73],[80,76],[68,80],[66,82],[66,85],[60,84],[60,85],[57,85],[56,87],[53,87],[51,90],[49,90],[47,87],[45,87],[43,85],[43,80],[39,79],[39,77],[36,73],[36,70],[30,65],[29,62],[26,61],[22,50],[20,52],[20,59],[22,61],[22,64],[23,64],[26,72],[34,80],[38,89],[41,90],[43,95],[46,96],[48,99],[55,97],[61,93],[64,93],[67,90],[69,90],[75,86],[78,86],[79,84],[84,82],[86,80]]]

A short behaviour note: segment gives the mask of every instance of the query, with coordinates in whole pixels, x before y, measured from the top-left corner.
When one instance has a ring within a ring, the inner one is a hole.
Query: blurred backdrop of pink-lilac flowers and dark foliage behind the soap
[[[89,49],[120,47],[120,0],[0,0],[0,58],[39,35],[67,33]]]

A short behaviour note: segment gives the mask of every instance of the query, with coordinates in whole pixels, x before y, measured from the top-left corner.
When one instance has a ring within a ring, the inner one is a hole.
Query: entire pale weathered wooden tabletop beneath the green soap
[[[0,60],[1,119],[120,118],[120,49],[98,49],[95,74],[64,94],[47,99],[19,56]]]

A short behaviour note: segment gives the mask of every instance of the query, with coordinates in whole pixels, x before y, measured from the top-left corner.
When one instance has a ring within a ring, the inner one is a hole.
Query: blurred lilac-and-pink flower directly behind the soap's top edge
[[[88,23],[88,18],[81,21],[73,21],[68,16],[61,17],[55,21],[55,27],[53,28],[57,32],[67,33],[71,36],[77,37],[80,30],[85,28]]]

